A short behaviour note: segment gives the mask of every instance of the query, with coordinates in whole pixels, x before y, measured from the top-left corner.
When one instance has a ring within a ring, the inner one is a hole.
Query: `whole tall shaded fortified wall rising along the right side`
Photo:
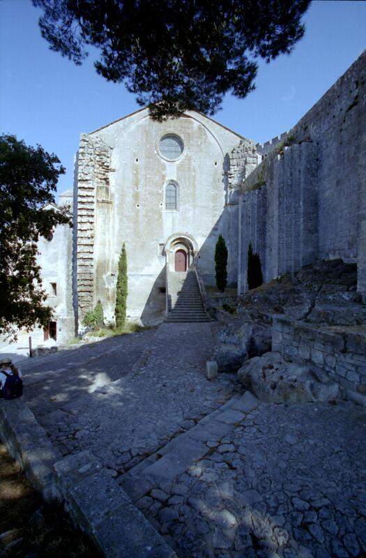
[[[252,243],[265,282],[341,257],[358,263],[366,297],[365,79],[363,52],[282,142],[265,144],[266,157],[241,184],[238,294]]]

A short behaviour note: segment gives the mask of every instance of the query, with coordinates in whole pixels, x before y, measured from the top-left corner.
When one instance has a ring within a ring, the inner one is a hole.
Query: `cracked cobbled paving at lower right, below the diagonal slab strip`
[[[136,492],[178,556],[365,557],[366,409],[261,403],[233,420],[185,472]]]

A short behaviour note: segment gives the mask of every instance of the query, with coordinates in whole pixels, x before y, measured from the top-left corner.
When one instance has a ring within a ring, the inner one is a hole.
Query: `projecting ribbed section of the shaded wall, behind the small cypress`
[[[317,173],[314,144],[303,142],[268,155],[245,181],[239,199],[239,294],[247,290],[249,243],[260,255],[265,282],[314,261]]]

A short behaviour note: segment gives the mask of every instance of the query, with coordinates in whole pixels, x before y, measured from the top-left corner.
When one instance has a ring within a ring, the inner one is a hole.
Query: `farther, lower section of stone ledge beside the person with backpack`
[[[53,467],[61,454],[31,410],[21,399],[0,400],[0,419],[1,439],[33,486],[47,502],[61,499]]]

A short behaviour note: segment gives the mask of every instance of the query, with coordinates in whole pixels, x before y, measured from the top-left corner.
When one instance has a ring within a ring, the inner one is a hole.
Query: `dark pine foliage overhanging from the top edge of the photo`
[[[227,91],[254,89],[258,59],[289,53],[310,0],[32,0],[52,50],[124,83],[156,119],[213,114]],[[156,105],[155,103],[158,103]]]

